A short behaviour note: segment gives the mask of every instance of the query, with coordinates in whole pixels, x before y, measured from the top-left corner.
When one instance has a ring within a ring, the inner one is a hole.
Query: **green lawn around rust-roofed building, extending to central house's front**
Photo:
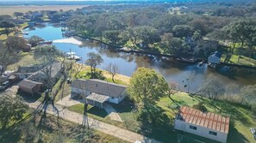
[[[161,128],[156,128],[151,133],[146,134],[147,136],[163,142],[177,142],[178,132],[173,132],[172,123],[178,112],[178,106],[185,105],[192,107],[199,102],[203,102],[209,112],[214,112],[222,116],[230,116],[231,122],[228,134],[228,143],[250,143],[255,141],[253,140],[253,135],[251,134],[249,128],[256,127],[256,122],[255,117],[253,117],[253,114],[249,109],[241,107],[239,104],[230,104],[226,101],[213,101],[209,98],[190,97],[184,92],[178,92],[176,95],[172,96],[172,98],[175,103],[173,103],[170,98],[160,99],[158,106],[163,111],[163,117],[161,119],[163,122],[165,122],[165,124]],[[138,113],[132,110],[132,104],[122,103],[111,105],[119,112],[119,115],[124,121],[119,122],[118,127],[129,129],[140,134],[145,134],[140,130],[140,128],[143,127],[143,123],[137,121]],[[83,104],[73,105],[69,107],[69,110],[83,113]],[[97,112],[95,113],[90,112],[89,116],[96,118],[97,120],[116,125],[116,122],[108,120],[106,116],[101,117],[101,112],[102,111],[97,109]],[[192,138],[208,143],[215,142],[213,140],[207,140],[193,134],[185,134],[185,136],[188,140],[191,140]]]

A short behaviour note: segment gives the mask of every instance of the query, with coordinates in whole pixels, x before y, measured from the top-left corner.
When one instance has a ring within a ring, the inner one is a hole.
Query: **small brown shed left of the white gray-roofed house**
[[[43,83],[41,83],[41,82],[36,82],[33,80],[27,80],[27,79],[24,79],[20,83],[18,83],[19,88],[23,92],[28,92],[28,93],[32,94],[32,96],[34,95],[34,93],[41,91],[42,85],[43,85]]]

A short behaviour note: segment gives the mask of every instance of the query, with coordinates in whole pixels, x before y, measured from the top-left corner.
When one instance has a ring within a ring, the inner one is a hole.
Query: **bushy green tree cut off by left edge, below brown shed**
[[[12,98],[8,95],[1,95],[0,98],[0,122],[1,128],[6,128],[9,122],[17,122],[22,119],[28,105],[22,102],[19,97]]]

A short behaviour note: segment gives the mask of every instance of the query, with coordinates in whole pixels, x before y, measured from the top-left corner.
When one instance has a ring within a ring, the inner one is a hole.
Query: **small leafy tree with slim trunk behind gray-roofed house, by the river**
[[[103,58],[98,55],[97,53],[90,52],[87,54],[89,57],[86,61],[85,64],[90,65],[91,67],[91,78],[95,78],[96,75],[96,67],[97,65],[100,65],[103,63]]]

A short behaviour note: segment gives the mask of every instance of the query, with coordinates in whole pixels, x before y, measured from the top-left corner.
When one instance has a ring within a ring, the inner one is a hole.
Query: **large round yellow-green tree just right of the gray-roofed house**
[[[130,79],[128,94],[142,107],[149,108],[167,96],[169,86],[164,77],[153,69],[139,68]]]

